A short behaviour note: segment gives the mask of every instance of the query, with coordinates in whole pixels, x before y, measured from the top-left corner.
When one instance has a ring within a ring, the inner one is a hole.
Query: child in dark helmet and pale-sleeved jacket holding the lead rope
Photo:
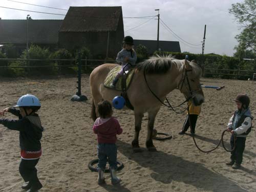
[[[230,145],[233,151],[231,152],[230,162],[226,165],[238,169],[243,161],[246,136],[251,131],[253,117],[249,109],[250,99],[247,95],[239,94],[233,101],[236,102],[238,110],[234,112],[227,124],[227,131],[231,133]],[[234,143],[236,146],[234,146]]]

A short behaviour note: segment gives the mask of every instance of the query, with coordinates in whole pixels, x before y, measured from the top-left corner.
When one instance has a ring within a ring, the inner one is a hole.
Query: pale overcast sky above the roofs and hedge
[[[234,38],[241,31],[228,13],[231,4],[241,3],[242,0],[0,0],[0,6],[31,11],[66,14],[66,10],[50,9],[17,2],[40,6],[69,9],[70,6],[121,6],[123,17],[154,16],[159,9],[160,32],[159,40],[179,41],[181,52],[202,53],[204,25],[206,39],[204,53],[216,53],[232,56],[234,46],[238,44]],[[51,15],[0,8],[2,19],[26,19],[30,14],[32,19],[63,19],[62,15]],[[124,18],[124,35],[134,39],[157,39],[157,17],[153,18]],[[169,29],[168,29],[169,28]],[[176,35],[171,32],[172,30]],[[181,39],[183,40],[181,40]],[[186,41],[186,42],[185,42]],[[191,45],[193,44],[193,45]],[[201,45],[200,45],[201,44]],[[199,46],[198,46],[199,45]]]

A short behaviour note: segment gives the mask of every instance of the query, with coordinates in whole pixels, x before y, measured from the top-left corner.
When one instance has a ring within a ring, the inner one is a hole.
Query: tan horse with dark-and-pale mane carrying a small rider
[[[96,67],[90,75],[90,87],[92,94],[91,118],[98,117],[97,104],[102,100],[112,103],[115,96],[121,91],[104,87],[103,82],[109,72],[118,66],[114,63],[104,63]],[[172,56],[152,56],[136,65],[134,69],[127,97],[134,108],[135,132],[132,141],[134,152],[140,152],[139,133],[144,113],[148,113],[146,147],[148,151],[157,151],[153,144],[152,132],[156,115],[166,95],[175,89],[179,89],[186,100],[193,98],[195,105],[204,101],[204,94],[200,84],[202,70],[192,60],[174,59]],[[127,109],[127,108],[124,108]]]

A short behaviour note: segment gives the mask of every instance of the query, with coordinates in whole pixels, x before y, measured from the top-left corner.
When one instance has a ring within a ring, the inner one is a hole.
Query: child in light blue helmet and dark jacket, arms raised
[[[10,130],[19,131],[20,156],[22,158],[19,164],[19,173],[26,182],[22,188],[28,189],[27,192],[37,191],[42,187],[35,168],[42,153],[40,139],[42,131],[44,131],[40,118],[35,113],[40,106],[37,97],[27,94],[20,97],[13,108],[0,111],[0,116],[9,112],[19,118],[19,120],[0,119],[0,124]],[[19,108],[19,110],[15,108]]]

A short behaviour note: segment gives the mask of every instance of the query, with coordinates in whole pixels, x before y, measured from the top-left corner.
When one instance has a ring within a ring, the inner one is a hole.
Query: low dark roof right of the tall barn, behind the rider
[[[149,54],[153,54],[157,50],[157,40],[134,39],[134,45],[135,47],[138,45],[145,46]],[[181,52],[179,41],[159,40],[159,48],[161,51]]]

